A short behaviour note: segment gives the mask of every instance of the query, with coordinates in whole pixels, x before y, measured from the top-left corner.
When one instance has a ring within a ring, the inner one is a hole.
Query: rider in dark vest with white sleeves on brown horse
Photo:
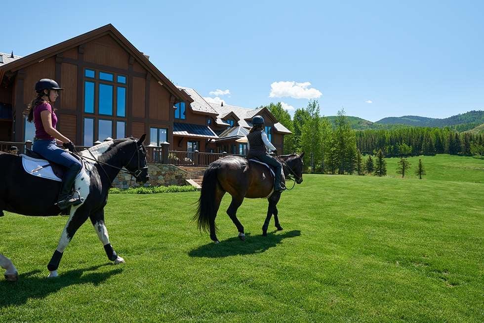
[[[255,116],[252,118],[252,124],[252,129],[250,129],[250,132],[247,134],[247,158],[250,159],[255,157],[259,161],[276,167],[274,191],[283,191],[285,190],[285,185],[282,182],[283,178],[281,178],[282,164],[267,153],[267,150],[274,153],[277,153],[277,150],[269,141],[266,132],[263,130],[264,118],[261,116]]]

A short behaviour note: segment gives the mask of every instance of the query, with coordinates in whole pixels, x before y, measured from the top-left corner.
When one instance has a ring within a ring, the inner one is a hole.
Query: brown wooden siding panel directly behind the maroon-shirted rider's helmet
[[[49,57],[40,63],[27,66],[24,72],[23,104],[26,107],[36,95],[35,83],[37,81],[40,79],[55,79],[55,57]]]

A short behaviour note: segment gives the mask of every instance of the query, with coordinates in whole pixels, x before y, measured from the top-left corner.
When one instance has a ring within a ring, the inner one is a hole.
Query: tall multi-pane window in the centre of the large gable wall
[[[125,137],[126,80],[125,75],[84,69],[84,113],[93,115],[84,118],[84,146]]]

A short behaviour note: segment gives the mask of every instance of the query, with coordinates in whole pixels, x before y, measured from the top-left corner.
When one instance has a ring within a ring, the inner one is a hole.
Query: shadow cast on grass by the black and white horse
[[[120,274],[122,269],[117,268],[107,273],[85,274],[85,272],[92,272],[100,267],[109,265],[112,265],[112,263],[71,270],[67,273],[60,274],[56,278],[47,278],[46,273],[40,270],[34,270],[20,274],[17,282],[0,281],[0,308],[10,305],[22,305],[30,298],[45,298],[49,294],[71,285],[84,283],[98,285],[105,282],[111,276]],[[45,276],[39,277],[39,273],[42,273],[42,275],[45,274]]]

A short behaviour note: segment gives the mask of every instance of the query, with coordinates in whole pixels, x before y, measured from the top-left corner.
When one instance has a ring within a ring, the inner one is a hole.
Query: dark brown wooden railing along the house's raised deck
[[[30,140],[26,142],[0,141],[0,151],[2,152],[7,152],[11,146],[17,146],[19,154],[23,154],[26,148],[32,149],[32,142]],[[89,147],[76,146],[78,151],[87,148]],[[145,148],[148,162],[174,164],[178,166],[208,166],[211,162],[227,155],[242,156],[227,153],[201,153],[197,150],[194,152],[179,152],[168,150],[168,143],[163,143],[161,146],[145,146]]]

